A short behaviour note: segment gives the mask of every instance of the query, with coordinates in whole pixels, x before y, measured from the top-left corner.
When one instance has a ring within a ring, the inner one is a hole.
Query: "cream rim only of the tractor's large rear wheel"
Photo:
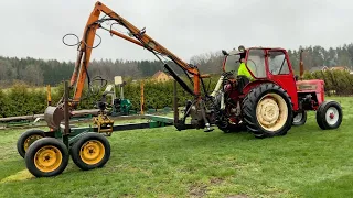
[[[288,118],[288,107],[282,97],[277,94],[265,95],[256,107],[258,123],[266,130],[275,132],[281,129]]]

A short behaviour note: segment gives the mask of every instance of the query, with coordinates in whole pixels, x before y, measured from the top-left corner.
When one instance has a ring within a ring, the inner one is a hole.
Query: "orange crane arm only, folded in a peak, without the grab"
[[[105,13],[106,15],[99,19],[99,15],[101,13]],[[115,30],[111,30],[111,28],[107,29],[100,25],[100,23],[105,21],[111,21],[111,20],[115,21],[115,23],[126,28],[129,31],[129,34],[131,35],[131,37],[125,34],[121,34]],[[194,78],[193,92],[195,95],[200,95],[200,78],[207,77],[207,76],[201,76],[196,67],[183,62],[181,58],[179,58],[176,55],[171,53],[164,46],[159,44],[157,41],[152,40],[150,36],[146,34],[145,29],[139,30],[138,28],[132,25],[130,22],[128,22],[126,19],[124,19],[122,16],[120,16],[119,14],[117,14],[116,12],[110,10],[108,7],[106,7],[105,4],[98,1],[96,2],[94,10],[92,11],[88,18],[88,21],[84,31],[83,40],[81,41],[81,45],[78,48],[75,69],[71,78],[71,86],[72,87],[75,86],[74,98],[73,98],[74,106],[79,102],[79,99],[82,97],[85,79],[87,77],[89,58],[90,58],[92,50],[94,48],[93,45],[94,45],[97,29],[104,29],[108,31],[111,35],[119,36],[133,44],[145,47],[150,52],[152,52],[154,55],[161,54],[169,57],[176,65],[179,65],[184,72],[193,75],[193,78]]]

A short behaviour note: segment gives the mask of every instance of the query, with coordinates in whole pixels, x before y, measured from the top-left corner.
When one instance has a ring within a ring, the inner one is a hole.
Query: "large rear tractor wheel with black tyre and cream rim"
[[[285,135],[293,119],[292,103],[287,91],[266,82],[252,89],[242,103],[247,129],[256,138]]]

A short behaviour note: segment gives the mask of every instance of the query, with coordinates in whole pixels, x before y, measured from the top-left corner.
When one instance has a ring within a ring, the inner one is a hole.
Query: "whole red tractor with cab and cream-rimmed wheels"
[[[300,79],[295,76],[286,50],[240,46],[223,54],[224,74],[212,96],[217,106],[215,124],[224,132],[247,129],[256,138],[285,135],[292,125],[306,123],[308,110],[317,111],[321,129],[340,127],[342,108],[324,101],[324,81],[302,80],[302,61]],[[252,78],[237,75],[240,58]]]

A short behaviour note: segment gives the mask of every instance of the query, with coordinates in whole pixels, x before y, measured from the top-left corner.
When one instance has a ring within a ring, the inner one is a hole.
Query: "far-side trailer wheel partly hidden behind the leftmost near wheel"
[[[39,129],[31,129],[22,133],[17,143],[19,154],[24,158],[25,152],[30,145],[44,136],[44,131]]]

